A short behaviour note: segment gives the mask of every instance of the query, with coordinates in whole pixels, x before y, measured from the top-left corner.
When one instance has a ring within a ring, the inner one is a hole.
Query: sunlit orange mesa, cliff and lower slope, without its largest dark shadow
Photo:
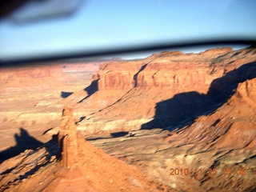
[[[74,97],[71,95],[63,103],[73,105],[80,117],[86,117],[84,122],[79,122],[78,129],[86,129],[88,134],[138,130],[143,123],[154,118],[156,103],[178,96],[182,105],[182,95],[178,94],[194,92],[198,94],[193,94],[195,100],[203,95],[210,98],[210,94],[212,98],[223,99],[230,82],[236,79],[232,82],[235,86],[244,81],[236,69],[254,62],[255,55],[253,48],[221,48],[200,54],[162,52],[142,60],[106,62],[94,74],[98,91],[84,95],[86,99],[81,99],[82,94],[79,94],[79,99],[75,94]],[[234,73],[229,74],[231,71]],[[244,73],[252,72],[247,70]],[[222,80],[215,81],[218,78]],[[226,96],[229,94],[231,92]],[[186,105],[181,109],[185,110]],[[77,119],[80,117],[76,116]]]

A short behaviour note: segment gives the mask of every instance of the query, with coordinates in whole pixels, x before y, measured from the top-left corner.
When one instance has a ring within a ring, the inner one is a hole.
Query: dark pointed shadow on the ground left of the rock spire
[[[10,148],[0,152],[0,163],[6,161],[8,158],[13,158],[25,150],[35,150],[43,143],[38,141],[36,138],[30,136],[27,130],[19,128],[20,134],[14,134],[16,141],[16,146],[11,146]]]

